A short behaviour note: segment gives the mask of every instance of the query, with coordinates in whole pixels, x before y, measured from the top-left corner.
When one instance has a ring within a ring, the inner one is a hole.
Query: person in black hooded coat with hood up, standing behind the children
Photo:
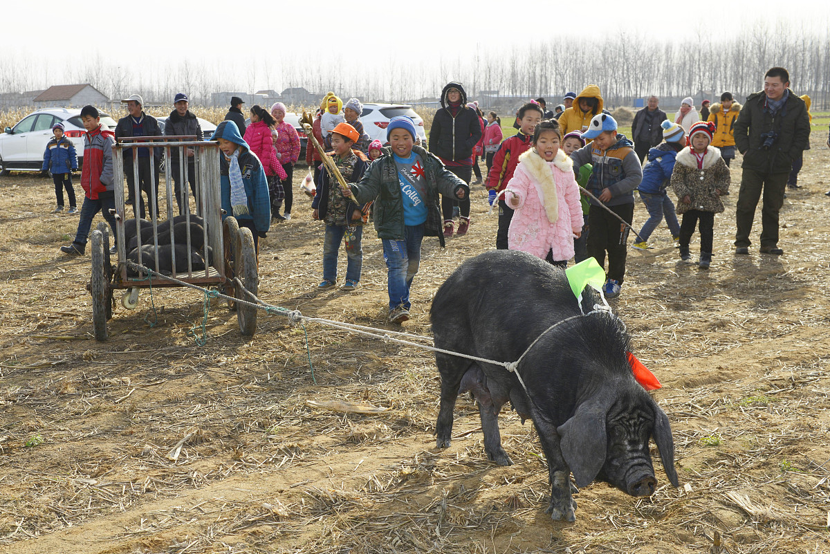
[[[461,181],[470,184],[473,148],[481,139],[481,123],[476,110],[466,106],[466,92],[461,83],[447,83],[441,92],[442,108],[432,119],[429,132],[429,151],[444,163]],[[470,198],[453,200],[452,196],[442,197],[441,209],[444,216],[444,236],[452,236],[452,207],[457,204],[461,211],[458,235],[464,235],[470,225]]]

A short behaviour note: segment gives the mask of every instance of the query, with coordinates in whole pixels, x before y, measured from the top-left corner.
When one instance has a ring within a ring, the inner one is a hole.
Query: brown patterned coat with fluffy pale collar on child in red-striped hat
[[[683,148],[677,153],[674,171],[671,173],[671,188],[677,195],[676,210],[678,214],[689,210],[724,211],[724,203],[715,189],[723,195],[729,194],[730,173],[720,150],[714,146],[706,147],[703,157],[703,169],[697,168],[697,158],[691,148]],[[689,196],[691,202],[685,204],[683,197]]]

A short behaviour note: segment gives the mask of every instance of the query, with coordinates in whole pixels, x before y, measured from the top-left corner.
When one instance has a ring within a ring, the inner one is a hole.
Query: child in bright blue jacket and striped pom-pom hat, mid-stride
[[[633,247],[637,250],[648,250],[648,237],[657,229],[663,216],[666,216],[666,225],[671,231],[671,238],[675,244],[680,240],[680,223],[675,215],[674,202],[666,193],[666,187],[671,180],[671,172],[674,171],[674,163],[677,153],[686,145],[686,134],[683,128],[664,119],[660,124],[663,128],[663,139],[665,142],[658,144],[648,151],[647,163],[642,168],[642,181],[637,187],[642,203],[648,210],[648,220],[640,229],[639,242],[634,239]]]

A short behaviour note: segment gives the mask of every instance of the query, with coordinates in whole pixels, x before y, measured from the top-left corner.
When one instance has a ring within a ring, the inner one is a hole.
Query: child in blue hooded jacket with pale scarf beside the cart
[[[237,124],[222,121],[213,132],[211,140],[219,141],[222,156],[219,157],[222,196],[222,219],[237,218],[240,227],[247,227],[254,236],[254,247],[259,255],[259,239],[265,238],[271,227],[271,197],[265,170],[259,158],[251,153],[248,144],[239,134]]]

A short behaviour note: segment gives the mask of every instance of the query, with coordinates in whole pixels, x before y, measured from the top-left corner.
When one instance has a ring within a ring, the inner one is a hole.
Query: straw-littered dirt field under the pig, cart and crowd
[[[243,338],[220,304],[199,347],[188,332],[201,328],[203,297],[183,289],[154,290],[152,304],[145,290],[133,311],[119,304],[110,340],[95,342],[90,257],[58,251],[77,216],[50,214],[48,179],[0,178],[0,552],[830,552],[822,129],[805,187],[785,201],[784,256],[757,254],[760,216],[753,254],[732,254],[740,169],[715,219],[710,271],[680,264],[665,226],[657,248],[630,250],[613,307],[663,383],[654,396],[671,420],[681,488],[666,485],[652,445],[652,498],[593,484],[570,524],[544,513],[544,456],[513,412],[501,418],[512,467],[486,461],[466,397],[452,448],[435,450],[439,379],[426,350],[310,324],[312,375],[301,328],[261,314]],[[295,196],[304,176],[298,168]],[[477,187],[467,236],[446,250],[425,241],[408,332],[428,335],[437,286],[493,247],[485,198]],[[320,292],[321,224],[305,197],[293,214],[262,248],[261,298],[395,328],[374,230],[359,289]],[[644,214],[638,205],[637,228]]]

